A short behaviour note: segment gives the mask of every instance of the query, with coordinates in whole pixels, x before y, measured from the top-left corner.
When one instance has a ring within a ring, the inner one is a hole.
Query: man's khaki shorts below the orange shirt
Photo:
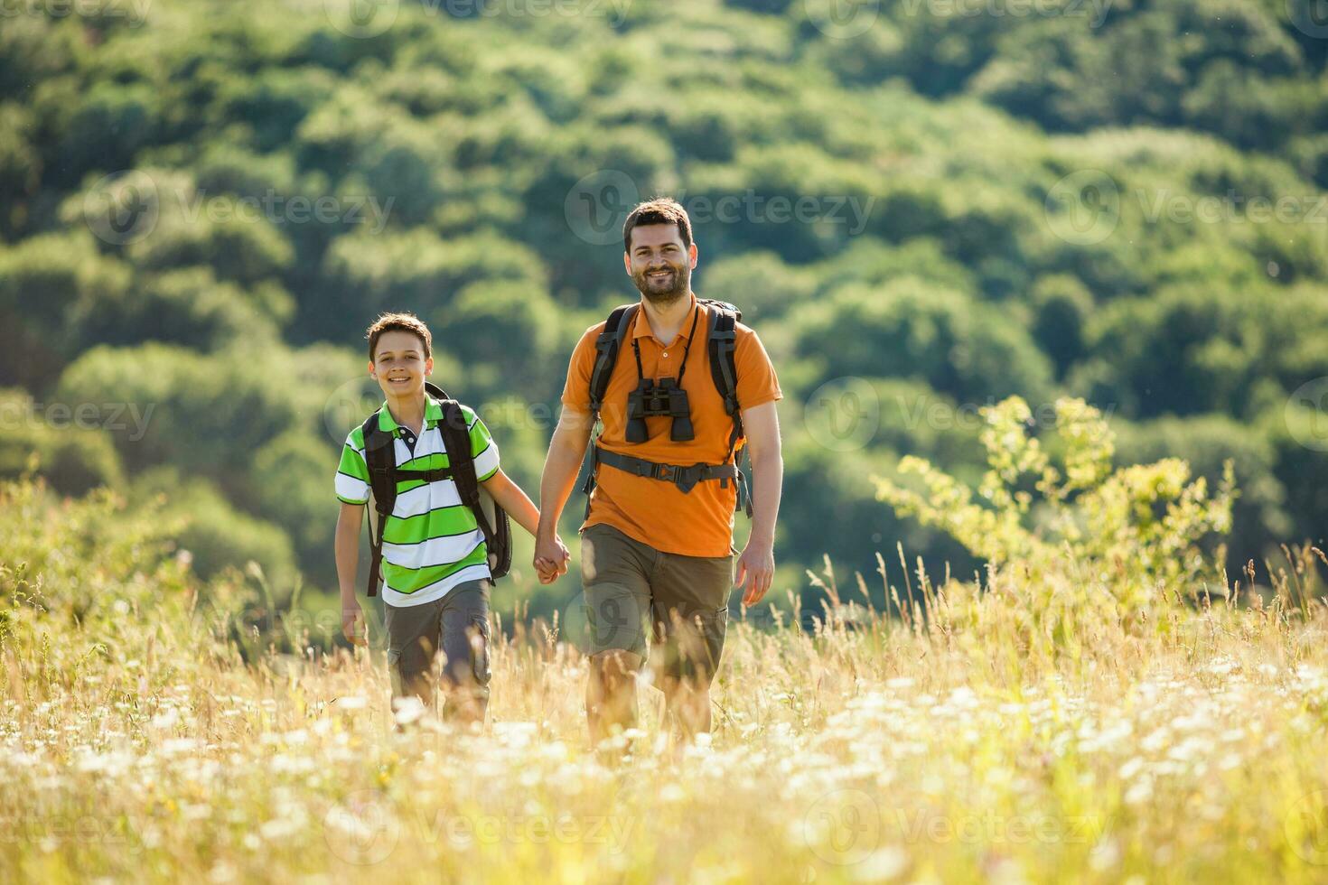
[[[612,525],[582,532],[590,653],[651,651],[664,675],[709,685],[720,666],[733,590],[733,553],[661,553]]]

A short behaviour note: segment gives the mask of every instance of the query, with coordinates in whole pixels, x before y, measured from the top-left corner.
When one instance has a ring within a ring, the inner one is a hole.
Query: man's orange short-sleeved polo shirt
[[[733,421],[724,411],[724,398],[710,377],[710,354],[706,346],[708,310],[692,296],[696,314],[696,341],[687,357],[681,387],[687,391],[696,438],[673,442],[669,438],[672,418],[647,418],[649,437],[643,443],[627,442],[627,395],[636,390],[636,356],[632,341],[641,350],[641,377],[677,378],[683,356],[692,334],[693,313],[688,313],[673,341],[660,341],[651,332],[644,309],[637,309],[635,326],[623,346],[608,379],[600,410],[604,423],[599,437],[607,451],[635,455],[664,464],[721,464],[729,450]],[[595,368],[595,340],[604,324],[586,330],[572,350],[563,387],[563,406],[572,411],[590,411],[590,375]],[[750,328],[737,325],[733,361],[738,373],[738,407],[752,409],[780,399],[780,379],[761,340]],[[636,476],[608,464],[600,464],[590,516],[582,531],[600,523],[612,525],[628,537],[649,544],[664,553],[683,556],[728,556],[733,552],[733,508],[737,504],[736,483],[705,479],[684,494],[671,482]]]

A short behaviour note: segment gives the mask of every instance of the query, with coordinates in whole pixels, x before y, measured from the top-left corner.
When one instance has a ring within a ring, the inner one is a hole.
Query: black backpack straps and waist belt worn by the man
[[[720,397],[724,398],[724,411],[733,419],[733,433],[729,434],[729,451],[724,464],[693,464],[691,467],[653,464],[640,458],[607,452],[596,444],[596,441],[591,441],[587,454],[588,475],[582,486],[582,491],[587,495],[587,515],[590,515],[590,494],[595,490],[595,471],[600,462],[606,462],[643,476],[649,475],[656,479],[677,482],[684,492],[691,490],[699,479],[718,479],[720,484],[728,484],[728,478],[732,475],[738,487],[737,506],[746,511],[748,517],[752,516],[752,494],[746,487],[746,476],[742,475],[733,456],[744,435],[742,413],[738,409],[738,370],[733,357],[737,349],[737,324],[742,320],[742,312],[728,301],[697,299],[697,303],[706,308],[705,342],[710,357],[710,379],[714,382],[714,389],[720,391]],[[604,405],[604,394],[608,391],[608,379],[618,364],[618,354],[636,321],[636,312],[640,310],[640,306],[637,301],[614,308],[614,312],[604,321],[604,329],[595,340],[595,368],[590,374],[590,409],[596,419]]]

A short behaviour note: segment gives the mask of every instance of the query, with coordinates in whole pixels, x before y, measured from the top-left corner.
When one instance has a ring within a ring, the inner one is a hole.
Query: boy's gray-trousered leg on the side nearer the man
[[[489,709],[489,588],[466,581],[442,602],[442,679],[448,693],[444,716],[463,724],[483,724]]]

